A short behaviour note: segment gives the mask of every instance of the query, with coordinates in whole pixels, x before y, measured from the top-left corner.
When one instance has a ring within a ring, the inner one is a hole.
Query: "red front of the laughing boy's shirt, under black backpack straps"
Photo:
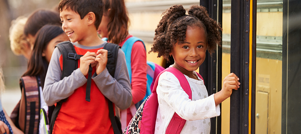
[[[98,49],[82,49],[74,46],[78,55],[84,55],[89,52],[97,52]],[[62,69],[62,56],[60,65]],[[78,68],[80,60],[78,60]],[[93,67],[92,74],[96,68]],[[88,75],[86,76],[86,78]],[[114,134],[113,127],[109,117],[108,99],[100,92],[95,82],[91,82],[91,101],[86,98],[87,83],[74,90],[67,101],[62,103],[60,112],[57,115],[53,127],[54,134]],[[113,104],[114,105],[114,104]],[[114,106],[113,106],[114,108]],[[115,109],[114,109],[115,111]],[[115,112],[114,112],[115,113]]]

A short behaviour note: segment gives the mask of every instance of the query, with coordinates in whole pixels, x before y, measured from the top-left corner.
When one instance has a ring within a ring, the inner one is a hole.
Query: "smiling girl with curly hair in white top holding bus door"
[[[205,7],[193,5],[188,14],[182,5],[174,5],[163,12],[150,52],[158,53],[169,60],[173,56],[176,68],[187,79],[192,99],[180,85],[180,80],[171,72],[159,76],[156,92],[158,94],[158,112],[155,133],[165,133],[173,114],[177,113],[186,120],[181,133],[210,133],[210,118],[219,116],[219,104],[229,98],[232,89],[237,90],[239,78],[231,73],[224,79],[223,88],[208,96],[203,80],[196,69],[203,63],[206,50],[213,53],[220,45],[219,24],[209,17]]]

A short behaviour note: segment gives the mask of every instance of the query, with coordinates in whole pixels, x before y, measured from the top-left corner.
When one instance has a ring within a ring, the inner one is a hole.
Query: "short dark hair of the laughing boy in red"
[[[103,17],[103,0],[61,0],[59,4],[59,11],[65,9],[71,9],[74,12],[77,12],[81,19],[83,19],[89,12],[95,14],[94,25],[96,29],[101,22]]]

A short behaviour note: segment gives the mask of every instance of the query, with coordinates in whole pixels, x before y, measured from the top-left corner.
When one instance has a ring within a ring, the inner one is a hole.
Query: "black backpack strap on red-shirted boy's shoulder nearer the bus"
[[[112,43],[107,43],[103,47],[103,49],[108,50],[108,62],[106,67],[112,77],[114,77],[115,74],[119,48],[120,48],[119,45],[112,44]],[[122,133],[121,123],[119,119],[114,115],[113,103],[110,100],[108,100],[108,106],[109,106],[109,116],[114,130],[114,134],[121,134]]]

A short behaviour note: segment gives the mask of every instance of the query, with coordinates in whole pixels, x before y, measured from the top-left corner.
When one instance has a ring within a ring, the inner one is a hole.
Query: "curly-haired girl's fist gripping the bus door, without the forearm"
[[[232,94],[232,89],[237,90],[239,88],[240,82],[238,82],[238,80],[239,78],[234,73],[231,73],[225,77],[223,88],[221,90],[225,97],[229,98]]]

